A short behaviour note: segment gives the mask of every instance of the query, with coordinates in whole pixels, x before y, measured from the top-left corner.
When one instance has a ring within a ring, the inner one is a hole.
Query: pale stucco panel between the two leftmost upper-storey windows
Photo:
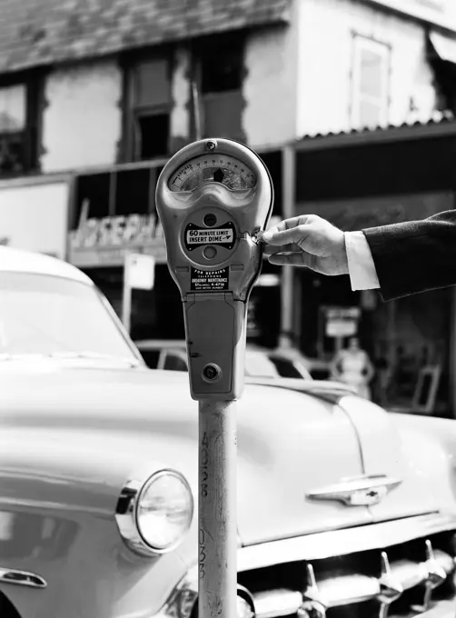
[[[45,84],[44,172],[114,164],[121,138],[122,75],[113,62],[62,67]]]

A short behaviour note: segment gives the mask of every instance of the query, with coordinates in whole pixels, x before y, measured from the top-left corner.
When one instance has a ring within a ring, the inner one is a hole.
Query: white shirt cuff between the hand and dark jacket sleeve
[[[345,232],[345,249],[352,291],[380,287],[372,253],[362,232]]]

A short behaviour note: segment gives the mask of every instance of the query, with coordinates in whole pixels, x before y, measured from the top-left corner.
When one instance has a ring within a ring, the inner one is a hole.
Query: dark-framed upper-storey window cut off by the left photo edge
[[[0,84],[0,177],[36,167],[37,89],[35,84]]]

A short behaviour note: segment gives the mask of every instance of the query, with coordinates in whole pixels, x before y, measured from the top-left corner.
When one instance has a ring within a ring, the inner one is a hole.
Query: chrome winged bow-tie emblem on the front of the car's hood
[[[309,500],[336,500],[347,506],[372,506],[380,503],[401,479],[385,474],[363,474],[344,478],[340,483],[318,487],[306,493]]]

